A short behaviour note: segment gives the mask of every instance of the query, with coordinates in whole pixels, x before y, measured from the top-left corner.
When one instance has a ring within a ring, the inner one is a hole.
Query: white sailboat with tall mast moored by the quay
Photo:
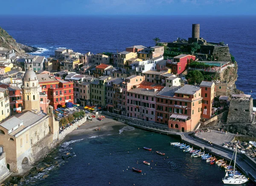
[[[237,152],[237,146],[238,145],[236,145],[236,152]],[[231,161],[230,161],[230,163],[231,163]],[[235,155],[233,176],[228,176],[228,171],[227,171],[225,177],[222,178],[222,181],[224,184],[240,185],[240,184],[246,183],[248,181],[248,179],[244,175],[239,175],[239,176],[235,175],[235,172],[236,172],[235,167],[236,167],[236,155]]]

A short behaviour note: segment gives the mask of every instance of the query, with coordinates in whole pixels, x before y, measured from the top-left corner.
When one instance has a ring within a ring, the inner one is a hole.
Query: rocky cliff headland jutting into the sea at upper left
[[[14,49],[19,56],[26,56],[25,53],[35,52],[39,49],[16,42],[3,28],[0,27],[0,47]]]

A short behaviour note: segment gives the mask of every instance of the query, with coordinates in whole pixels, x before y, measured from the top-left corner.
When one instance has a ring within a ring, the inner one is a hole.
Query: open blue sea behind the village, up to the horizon
[[[0,17],[0,27],[17,42],[41,48],[37,55],[49,56],[59,47],[74,51],[116,52],[131,45],[153,46],[155,37],[172,42],[192,35],[192,24],[200,23],[200,37],[224,42],[239,65],[236,86],[256,99],[256,17],[218,16],[64,16]]]

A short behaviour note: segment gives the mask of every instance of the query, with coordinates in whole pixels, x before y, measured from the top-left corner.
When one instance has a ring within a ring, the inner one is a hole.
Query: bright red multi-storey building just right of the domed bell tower
[[[57,80],[50,74],[37,74],[42,93],[47,95],[49,105],[54,109],[63,106],[66,102],[74,103],[73,82]],[[44,101],[44,99],[43,99]]]

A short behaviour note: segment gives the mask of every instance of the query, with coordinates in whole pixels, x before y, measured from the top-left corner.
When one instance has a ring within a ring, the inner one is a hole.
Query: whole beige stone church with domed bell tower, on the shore
[[[55,121],[51,106],[47,107],[47,113],[41,112],[40,91],[35,72],[26,70],[22,86],[23,112],[0,124],[0,161],[1,154],[6,159],[0,177],[8,169],[15,175],[23,175],[58,143],[59,122]]]

